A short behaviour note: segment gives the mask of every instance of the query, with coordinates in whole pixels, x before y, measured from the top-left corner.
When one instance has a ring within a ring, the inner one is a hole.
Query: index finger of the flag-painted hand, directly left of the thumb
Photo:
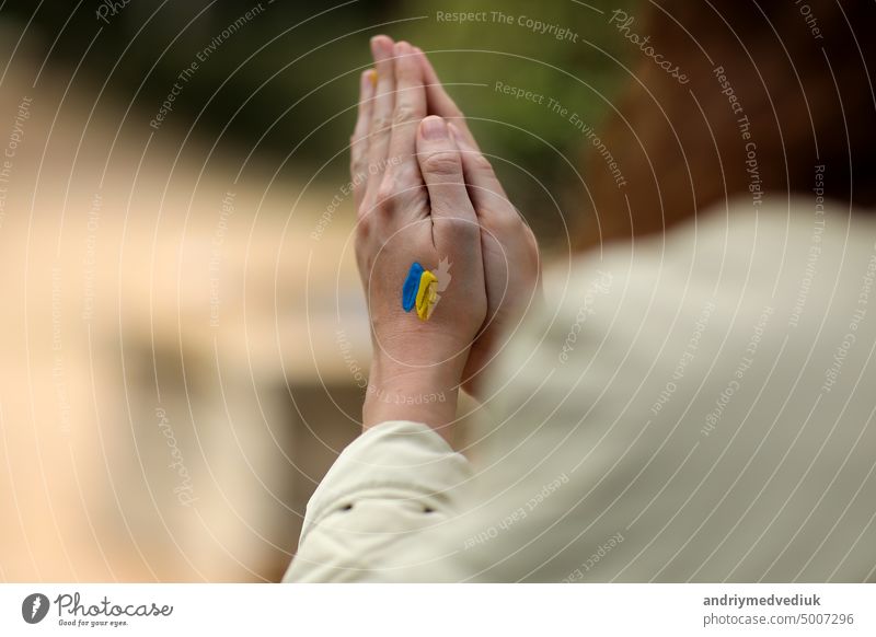
[[[426,91],[419,58],[406,42],[395,45],[395,112],[389,157],[403,163],[416,152],[417,125],[426,117]]]

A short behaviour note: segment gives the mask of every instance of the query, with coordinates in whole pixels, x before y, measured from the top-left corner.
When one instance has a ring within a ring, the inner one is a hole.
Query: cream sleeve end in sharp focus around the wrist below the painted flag
[[[381,556],[394,544],[459,513],[470,478],[465,458],[428,426],[372,427],[343,451],[311,497],[284,581],[379,577]]]

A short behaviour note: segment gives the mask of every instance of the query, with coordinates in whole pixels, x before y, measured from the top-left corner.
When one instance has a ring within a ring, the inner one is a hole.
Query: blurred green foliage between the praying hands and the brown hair
[[[584,213],[583,207],[570,209],[569,202],[585,198],[578,175],[584,172],[585,138],[569,119],[575,114],[598,127],[613,95],[629,79],[621,66],[629,61],[629,43],[608,19],[612,10],[631,10],[635,2],[447,0],[415,4],[424,8],[418,14],[428,18],[399,30],[399,36],[411,37],[429,54],[441,80],[450,84],[448,90],[472,119],[482,148],[493,155],[511,200],[542,243],[563,242],[563,221]],[[439,22],[438,11],[486,12],[486,16],[484,22]],[[530,20],[545,25],[544,33],[529,26]],[[533,96],[506,94],[497,90],[497,82]],[[552,100],[557,108],[551,107]],[[561,114],[561,108],[566,113]],[[569,197],[570,192],[576,194]],[[557,205],[562,210],[555,209]]]

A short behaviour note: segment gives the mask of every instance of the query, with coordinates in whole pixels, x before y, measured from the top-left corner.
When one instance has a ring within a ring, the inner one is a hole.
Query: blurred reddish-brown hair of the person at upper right
[[[815,166],[823,165],[827,196],[857,207],[876,202],[869,74],[876,2],[660,0],[631,15],[626,33],[649,36],[654,51],[678,63],[689,82],[630,43],[635,78],[602,131],[625,185],[619,187],[604,157],[588,149],[596,211],[576,234],[578,247],[657,232],[725,197],[751,196],[742,115],[751,125],[764,201],[811,194]],[[722,92],[718,67],[741,114]]]

